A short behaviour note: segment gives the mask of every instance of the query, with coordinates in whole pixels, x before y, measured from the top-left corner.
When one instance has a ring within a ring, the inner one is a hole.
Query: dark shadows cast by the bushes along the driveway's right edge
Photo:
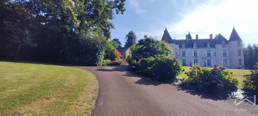
[[[151,79],[147,78],[145,76],[142,76],[140,74],[137,74],[136,72],[133,72],[130,70],[129,65],[117,65],[117,66],[106,66],[108,68],[106,69],[96,69],[99,71],[105,71],[105,72],[111,72],[111,71],[119,71],[122,72],[123,77],[134,77],[134,78],[140,78],[139,80],[135,81],[134,84],[139,84],[139,85],[153,85],[153,86],[158,86],[160,84],[171,84],[173,81],[161,81],[157,79]],[[173,86],[173,85],[171,85]],[[226,96],[220,95],[220,94],[212,94],[212,93],[204,93],[200,92],[194,89],[186,89],[184,87],[177,86],[178,91],[183,91],[188,94],[194,95],[194,96],[199,96],[200,99],[211,99],[214,101],[218,100],[227,100],[228,98]]]

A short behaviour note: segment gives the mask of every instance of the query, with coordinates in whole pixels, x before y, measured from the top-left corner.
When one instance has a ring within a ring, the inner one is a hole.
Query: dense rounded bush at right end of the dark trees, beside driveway
[[[104,36],[82,32],[71,47],[71,63],[79,65],[102,65],[106,42]]]

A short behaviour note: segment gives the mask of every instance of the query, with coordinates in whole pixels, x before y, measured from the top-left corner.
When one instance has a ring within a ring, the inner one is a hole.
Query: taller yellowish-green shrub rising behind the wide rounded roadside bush
[[[152,37],[144,36],[143,39],[134,44],[131,48],[131,58],[138,61],[141,58],[159,56],[169,57],[172,50],[164,41],[157,41]]]

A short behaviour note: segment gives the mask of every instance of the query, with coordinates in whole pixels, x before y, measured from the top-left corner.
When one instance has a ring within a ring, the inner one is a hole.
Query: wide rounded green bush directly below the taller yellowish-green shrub
[[[176,58],[156,56],[139,61],[128,58],[128,62],[137,73],[160,80],[174,80],[182,72],[181,62]]]

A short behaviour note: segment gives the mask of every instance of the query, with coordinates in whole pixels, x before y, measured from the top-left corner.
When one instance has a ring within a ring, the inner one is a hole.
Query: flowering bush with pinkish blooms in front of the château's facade
[[[213,69],[200,68],[194,64],[186,72],[187,82],[198,85],[199,89],[214,91],[217,89],[233,90],[237,88],[238,80],[235,74],[225,70],[225,67],[214,65]]]

